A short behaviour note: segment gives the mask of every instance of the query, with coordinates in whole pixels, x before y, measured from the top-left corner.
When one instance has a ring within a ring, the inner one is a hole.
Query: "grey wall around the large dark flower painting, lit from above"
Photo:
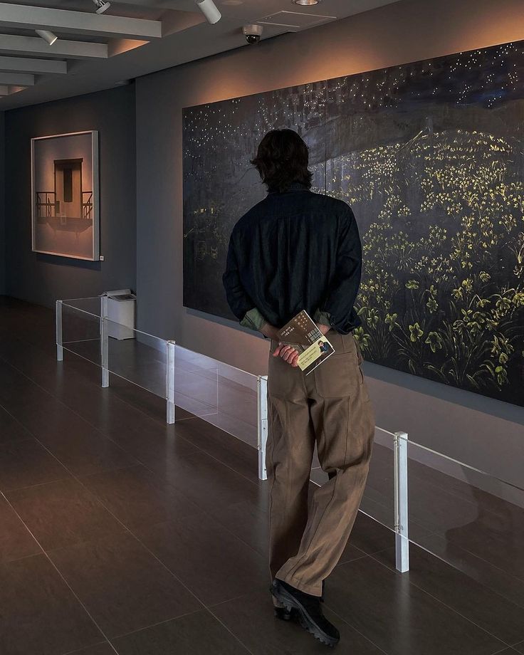
[[[267,340],[182,305],[182,108],[523,38],[520,0],[409,0],[139,78],[140,329],[267,372]],[[379,426],[524,483],[522,407],[376,365],[365,371]]]

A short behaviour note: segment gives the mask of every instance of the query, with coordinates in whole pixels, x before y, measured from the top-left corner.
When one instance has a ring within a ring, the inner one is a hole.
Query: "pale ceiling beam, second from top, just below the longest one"
[[[1,54],[32,54],[46,57],[68,59],[107,59],[107,43],[87,43],[85,41],[58,41],[48,46],[39,36],[14,36],[14,34],[0,34]]]

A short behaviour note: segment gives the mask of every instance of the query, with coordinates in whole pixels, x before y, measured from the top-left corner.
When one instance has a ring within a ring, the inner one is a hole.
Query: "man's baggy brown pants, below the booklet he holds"
[[[282,357],[268,362],[270,484],[269,569],[320,596],[350,537],[364,493],[374,437],[374,413],[350,332],[327,332],[335,353],[308,375]],[[313,451],[329,480],[308,490]]]

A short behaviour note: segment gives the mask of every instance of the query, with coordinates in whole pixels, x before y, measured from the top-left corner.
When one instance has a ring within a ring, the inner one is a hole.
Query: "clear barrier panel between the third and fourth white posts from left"
[[[174,360],[177,421],[189,412],[256,448],[257,376],[179,345]]]

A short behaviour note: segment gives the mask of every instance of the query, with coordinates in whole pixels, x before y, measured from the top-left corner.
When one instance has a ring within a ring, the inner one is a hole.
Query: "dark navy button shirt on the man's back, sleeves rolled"
[[[353,307],[361,273],[350,206],[294,182],[285,192],[270,190],[236,222],[222,281],[241,325],[280,328],[305,309],[347,334],[361,324]]]

